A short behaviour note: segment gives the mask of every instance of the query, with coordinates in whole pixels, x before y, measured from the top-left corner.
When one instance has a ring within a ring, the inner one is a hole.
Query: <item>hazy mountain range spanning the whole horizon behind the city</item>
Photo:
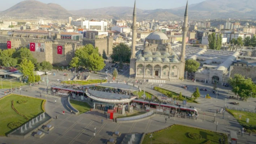
[[[185,6],[173,9],[137,9],[138,18],[171,19],[182,18]],[[256,0],[206,0],[188,6],[190,18],[255,18]],[[60,16],[102,16],[104,18],[132,16],[132,7],[107,7],[68,11],[58,4],[44,4],[35,0],[22,1],[0,12],[4,16],[60,17]]]

